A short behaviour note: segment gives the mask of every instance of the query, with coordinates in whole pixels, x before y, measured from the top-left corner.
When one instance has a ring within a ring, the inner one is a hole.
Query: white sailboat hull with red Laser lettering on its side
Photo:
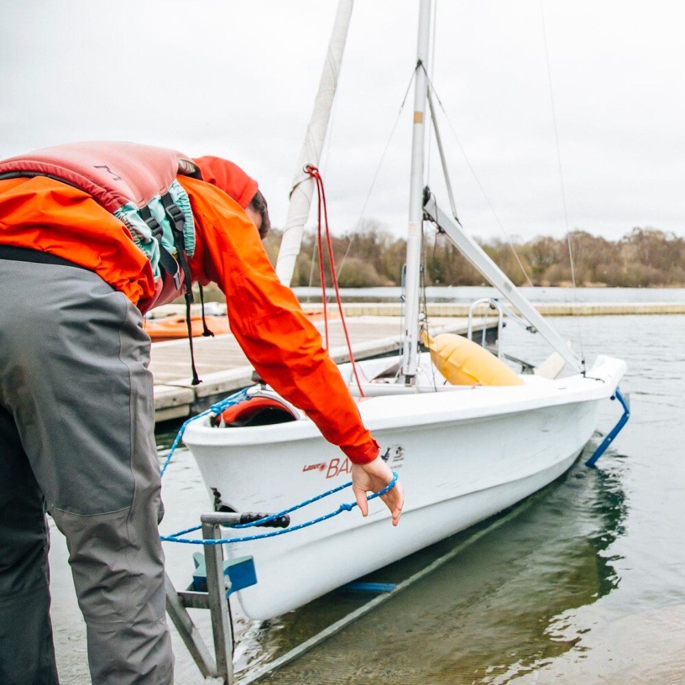
[[[612,395],[624,371],[624,362],[600,357],[588,377],[364,399],[362,419],[405,488],[400,525],[393,528],[374,500],[366,519],[354,509],[292,534],[227,545],[229,556],[249,554],[256,564],[258,584],[238,593],[243,610],[253,619],[283,614],[547,485],[582,451],[599,401]],[[207,486],[237,511],[275,512],[349,481],[349,462],[308,419],[229,429],[197,421],[185,442]],[[297,512],[292,523],[342,501],[353,501],[351,490]]]

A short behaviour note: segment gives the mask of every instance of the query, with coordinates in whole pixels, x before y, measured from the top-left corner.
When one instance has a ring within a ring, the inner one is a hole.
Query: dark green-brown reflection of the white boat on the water
[[[623,535],[625,462],[615,454],[603,462],[588,469],[580,460],[530,506],[519,504],[519,515],[264,682],[501,684],[574,649],[584,629],[574,630],[573,610],[620,580],[610,547]],[[365,580],[399,582],[477,530]],[[273,660],[368,599],[337,591],[273,621],[243,622],[238,668]]]

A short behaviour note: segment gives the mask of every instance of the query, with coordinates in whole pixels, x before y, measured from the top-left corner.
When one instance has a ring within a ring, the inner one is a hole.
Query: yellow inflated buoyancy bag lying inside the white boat
[[[452,385],[523,385],[514,371],[473,340],[454,333],[432,338],[424,332],[421,342],[430,350],[436,369]]]

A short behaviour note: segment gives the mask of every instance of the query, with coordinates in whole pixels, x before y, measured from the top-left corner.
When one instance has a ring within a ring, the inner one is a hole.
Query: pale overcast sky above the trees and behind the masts
[[[258,179],[282,225],[336,5],[3,0],[0,156],[88,139],[221,155]],[[543,10],[571,228],[685,235],[685,3],[543,0]],[[359,219],[390,136],[417,15],[414,0],[356,2],[323,155],[338,233]],[[491,204],[510,234],[563,234],[540,0],[437,0],[437,17],[433,81],[462,222],[501,235]],[[364,212],[397,234],[411,102]],[[447,205],[434,164],[429,180]]]

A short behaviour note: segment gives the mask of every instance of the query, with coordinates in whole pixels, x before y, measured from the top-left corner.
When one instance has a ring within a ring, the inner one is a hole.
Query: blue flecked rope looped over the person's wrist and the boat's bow
[[[171,444],[171,449],[169,449],[169,453],[166,455],[164,464],[162,464],[162,468],[160,469],[161,475],[164,476],[164,472],[166,471],[167,466],[169,466],[169,464],[171,463],[171,458],[173,457],[176,448],[180,445],[181,438],[183,437],[184,432],[186,432],[186,427],[188,427],[190,423],[192,423],[193,421],[197,421],[197,419],[201,419],[203,416],[209,416],[210,414],[218,416],[219,414],[221,414],[221,412],[223,412],[223,410],[242,402],[242,400],[244,400],[245,397],[247,397],[247,390],[240,390],[238,393],[230,395],[229,397],[226,397],[225,399],[222,399],[221,401],[212,404],[212,406],[210,406],[209,409],[200,412],[196,416],[191,416],[190,419],[186,419],[186,421],[184,421],[184,423],[179,428],[179,432],[176,434],[176,437],[174,438],[174,441]],[[377,493],[373,493],[372,495],[366,495],[366,500],[371,501],[372,499],[376,499],[377,497],[385,495],[395,487],[395,483],[397,483],[397,473],[393,471],[393,479],[382,490],[379,490]],[[290,514],[294,511],[297,511],[298,509],[302,509],[303,507],[309,506],[314,502],[318,502],[320,499],[323,499],[324,497],[329,497],[329,495],[339,493],[340,490],[345,490],[346,488],[349,488],[351,484],[352,482],[350,481],[349,483],[345,483],[344,485],[339,485],[337,488],[333,488],[332,490],[328,490],[325,493],[321,493],[321,495],[316,495],[316,497],[312,497],[311,499],[306,499],[305,501],[300,502],[299,504],[295,504],[294,506],[289,507],[288,509],[284,509],[282,512],[278,512],[277,514],[264,516],[263,519],[258,519],[257,521],[250,521],[249,523],[239,523],[237,525],[232,525],[231,528],[251,528],[262,523],[269,523],[269,521],[278,519],[280,516],[285,516],[286,514]],[[200,530],[200,528],[202,527],[201,525],[194,525],[192,528],[185,528],[184,530],[179,530],[179,532],[172,533],[171,535],[162,535],[160,536],[160,538],[164,540],[164,542],[185,543],[186,545],[228,545],[229,543],[243,543],[247,542],[248,540],[263,540],[264,538],[273,538],[277,535],[293,533],[296,530],[301,530],[302,528],[314,525],[314,523],[321,523],[321,521],[327,521],[327,519],[332,519],[334,516],[338,516],[338,514],[342,514],[344,511],[349,512],[353,510],[353,508],[355,508],[356,506],[358,506],[356,502],[343,502],[340,503],[340,506],[338,506],[338,508],[335,511],[329,512],[328,514],[323,514],[323,516],[319,516],[317,519],[312,519],[311,521],[306,521],[305,523],[298,523],[297,525],[284,528],[282,530],[275,530],[269,533],[262,533],[258,535],[247,535],[242,538],[224,538],[222,540],[194,540],[182,538],[182,536],[187,535],[188,533]]]

